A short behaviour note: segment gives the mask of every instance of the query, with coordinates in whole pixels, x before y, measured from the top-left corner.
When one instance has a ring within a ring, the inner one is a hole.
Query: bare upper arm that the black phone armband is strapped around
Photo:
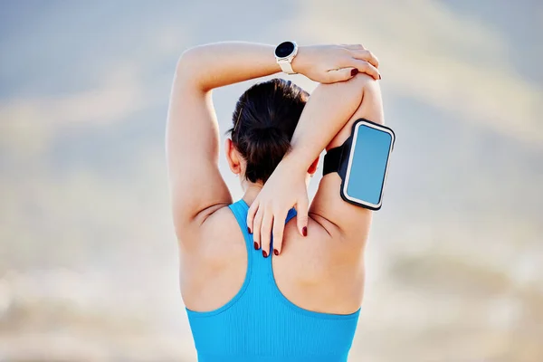
[[[329,148],[341,146],[350,136],[353,123],[357,119],[384,122],[383,104],[378,82],[366,74],[357,75],[359,89],[363,92],[362,101],[345,126],[329,143]],[[319,189],[310,206],[310,215],[319,222],[329,234],[341,233],[348,240],[365,241],[371,224],[372,212],[367,208],[351,205],[340,195],[341,177],[337,173],[328,174],[320,180]]]

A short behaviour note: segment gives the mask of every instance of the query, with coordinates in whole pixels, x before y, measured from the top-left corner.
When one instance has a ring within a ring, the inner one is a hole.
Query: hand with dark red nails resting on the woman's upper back
[[[281,162],[271,174],[262,191],[252,202],[247,214],[247,226],[252,233],[254,248],[262,247],[262,255],[270,255],[271,233],[273,253],[279,255],[283,230],[289,210],[295,206],[298,230],[307,235],[308,209],[310,205],[306,178],[307,170]]]

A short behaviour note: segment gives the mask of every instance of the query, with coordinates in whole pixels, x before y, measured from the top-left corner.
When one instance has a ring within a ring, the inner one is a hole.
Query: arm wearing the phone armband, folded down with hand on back
[[[281,252],[282,214],[295,205],[298,210],[300,233],[310,231],[308,214],[324,227],[329,235],[367,235],[371,213],[341,199],[338,174],[324,176],[309,208],[305,177],[311,163],[325,148],[340,146],[350,135],[356,119],[365,118],[383,123],[383,109],[378,84],[367,74],[359,74],[350,81],[321,84],[310,96],[291,140],[287,154],[268,179],[253,202],[248,224],[262,249],[269,246],[273,232],[274,248]],[[309,212],[308,212],[309,211]]]

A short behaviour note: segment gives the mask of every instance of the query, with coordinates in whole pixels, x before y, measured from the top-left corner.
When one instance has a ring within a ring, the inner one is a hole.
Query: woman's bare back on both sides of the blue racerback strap
[[[210,215],[201,231],[195,251],[181,252],[181,292],[189,310],[216,310],[242,288],[247,249],[228,207]],[[296,230],[296,217],[289,221],[283,242],[281,255],[269,257],[276,285],[286,299],[302,309],[324,313],[350,314],[359,309],[363,248],[357,254],[342,246],[312,218],[306,237]],[[263,258],[262,252],[256,257]]]

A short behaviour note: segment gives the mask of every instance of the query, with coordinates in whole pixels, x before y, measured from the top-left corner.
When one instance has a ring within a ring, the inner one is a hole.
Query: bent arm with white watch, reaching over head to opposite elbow
[[[354,68],[378,78],[375,57],[358,45],[350,47],[302,46],[292,68],[319,82],[345,81]],[[232,202],[218,168],[219,129],[211,90],[281,71],[273,49],[258,43],[213,43],[186,51],[177,62],[167,115],[167,167],[181,242],[193,240],[207,216]]]

